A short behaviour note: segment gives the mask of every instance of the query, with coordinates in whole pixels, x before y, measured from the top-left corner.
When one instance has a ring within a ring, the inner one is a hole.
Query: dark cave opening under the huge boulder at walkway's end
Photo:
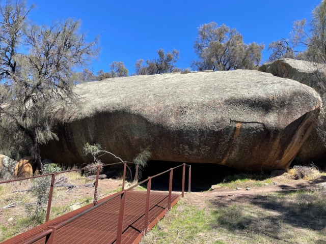
[[[176,167],[182,162],[170,161],[149,161],[145,167],[141,180],[146,179],[170,168]],[[223,182],[226,175],[239,173],[240,171],[218,164],[208,163],[186,163],[192,166],[192,192],[207,191],[212,185]],[[185,187],[184,191],[188,191],[188,167],[185,168]],[[169,191],[170,173],[159,175],[152,179],[151,189],[156,191]],[[173,170],[172,191],[181,191],[182,186],[182,167]]]

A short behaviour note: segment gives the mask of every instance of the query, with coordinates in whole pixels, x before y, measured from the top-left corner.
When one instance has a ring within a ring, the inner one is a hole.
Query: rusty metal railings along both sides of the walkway
[[[100,203],[97,203],[97,187],[98,187],[98,179],[99,179],[99,172],[100,172],[100,167],[103,166],[111,166],[111,165],[116,165],[116,164],[124,164],[123,167],[123,182],[122,182],[122,190],[118,193],[116,193],[114,196],[105,199],[104,201],[101,201]],[[145,218],[144,218],[144,226],[142,232],[146,234],[148,232],[148,221],[149,221],[149,202],[150,202],[150,193],[151,193],[151,184],[152,184],[152,178],[155,178],[159,175],[165,174],[167,172],[170,172],[170,178],[169,178],[169,196],[168,196],[168,210],[171,209],[171,199],[172,199],[172,184],[173,184],[173,170],[176,168],[179,168],[182,166],[182,187],[181,187],[181,197],[184,197],[184,187],[185,187],[185,167],[188,166],[188,192],[191,192],[191,165],[187,164],[181,164],[179,166],[176,166],[174,168],[170,168],[169,170],[166,170],[164,172],[161,172],[159,174],[153,175],[148,177],[147,179],[138,182],[138,184],[133,185],[129,187],[128,189],[125,188],[125,176],[126,176],[126,167],[127,163],[131,162],[119,162],[119,163],[114,163],[114,164],[106,164],[106,165],[98,165],[98,166],[92,166],[92,167],[85,167],[81,169],[74,169],[74,170],[68,170],[68,171],[61,171],[61,172],[56,172],[52,174],[44,174],[44,175],[38,175],[34,177],[28,177],[28,178],[21,178],[21,179],[13,179],[13,180],[7,180],[7,181],[1,181],[0,184],[8,183],[8,182],[14,182],[14,181],[20,181],[20,180],[26,180],[26,179],[33,179],[33,178],[38,178],[38,177],[45,177],[45,176],[51,176],[51,185],[50,185],[50,192],[49,192],[49,198],[48,198],[48,205],[47,205],[47,212],[46,212],[46,222],[49,220],[50,216],[50,210],[51,210],[51,201],[52,201],[52,194],[53,194],[53,188],[55,187],[55,178],[56,175],[62,174],[62,173],[67,173],[67,172],[73,172],[77,170],[84,170],[84,169],[90,169],[90,168],[95,168],[97,167],[96,171],[96,180],[95,180],[95,189],[94,189],[94,199],[93,199],[93,206],[80,212],[76,216],[56,225],[56,226],[49,226],[46,231],[43,233],[33,237],[32,239],[24,242],[24,244],[29,244],[29,243],[34,243],[42,238],[45,237],[45,243],[46,244],[51,244],[55,242],[55,234],[56,231],[63,226],[71,223],[74,220],[77,220],[78,218],[86,215],[88,212],[102,206],[103,204],[121,196],[120,198],[120,210],[119,210],[119,220],[118,220],[118,227],[117,227],[117,237],[116,237],[116,243],[120,244],[121,239],[122,239],[122,231],[123,231],[123,219],[124,219],[124,208],[125,208],[125,197],[126,197],[126,192],[132,190],[133,188],[140,186],[147,182],[147,193],[146,193],[146,207],[145,207]],[[132,164],[132,163],[131,163]],[[135,177],[134,180],[138,181],[138,169],[139,165],[135,164]]]

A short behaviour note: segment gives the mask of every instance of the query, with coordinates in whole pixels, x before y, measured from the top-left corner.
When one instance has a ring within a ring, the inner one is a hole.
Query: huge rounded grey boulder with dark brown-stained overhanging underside
[[[150,147],[151,160],[283,169],[321,106],[306,85],[248,70],[111,78],[75,92],[82,108],[58,125],[59,141],[41,148],[56,163],[90,162],[90,142],[127,161]]]

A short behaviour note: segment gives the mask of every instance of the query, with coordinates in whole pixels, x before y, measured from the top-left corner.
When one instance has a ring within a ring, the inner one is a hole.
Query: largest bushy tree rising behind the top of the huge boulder
[[[261,61],[264,45],[245,44],[235,28],[210,22],[199,27],[194,48],[198,55],[192,63],[195,70],[253,70]]]

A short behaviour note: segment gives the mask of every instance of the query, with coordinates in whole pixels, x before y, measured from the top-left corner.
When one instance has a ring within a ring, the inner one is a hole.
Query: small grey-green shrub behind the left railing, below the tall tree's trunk
[[[61,171],[58,164],[45,164],[44,174],[50,174]],[[42,224],[46,215],[46,205],[49,195],[51,176],[43,176],[33,179],[30,194],[36,199],[36,202],[25,205],[26,213],[34,225]]]

